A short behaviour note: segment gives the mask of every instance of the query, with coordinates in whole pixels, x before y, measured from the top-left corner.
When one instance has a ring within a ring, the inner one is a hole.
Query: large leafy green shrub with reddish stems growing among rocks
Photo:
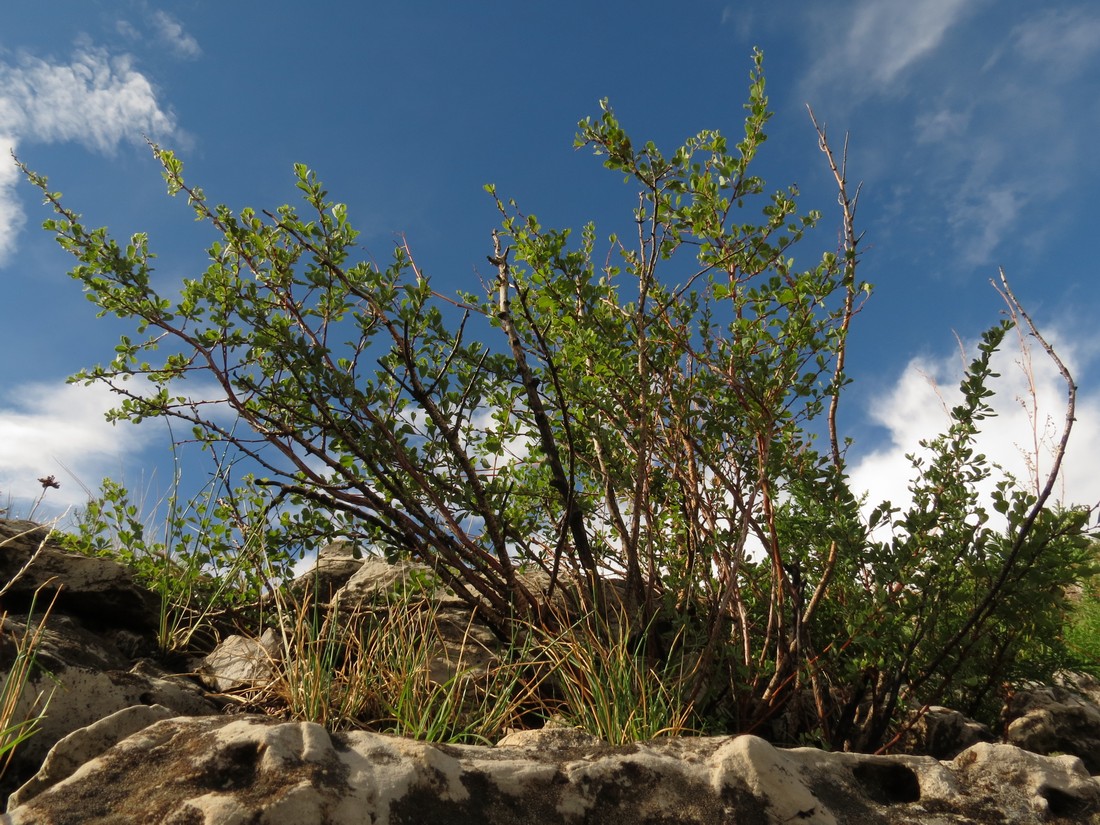
[[[638,191],[637,235],[597,250],[586,224],[575,243],[487,187],[503,215],[493,282],[460,298],[433,292],[406,245],[385,270],[360,260],[348,209],[302,165],[300,213],[235,213],[154,147],[169,193],[218,234],[205,273],[160,288],[144,235],[120,245],[87,230],[28,172],[80,262],[74,277],[140,336],[74,380],[121,393],[116,418],[183,420],[227,468],[251,470],[239,484],[227,470],[226,494],[198,510],[215,548],[285,562],[356,538],[429,564],[506,639],[563,629],[522,568],[556,588],[583,583],[595,614],[620,580],[629,632],[592,645],[629,651],[637,668],[616,678],[657,680],[641,690],[669,706],[635,728],[629,714],[618,730],[592,721],[602,735],[690,726],[873,749],[906,701],[988,716],[1003,685],[1072,661],[1062,594],[1094,556],[1087,512],[1046,508],[1050,484],[1036,496],[1005,480],[1008,529],[987,525],[976,485],[990,469],[972,439],[999,324],[950,429],[914,459],[913,506],[880,507],[871,520],[892,538],[871,537],[836,422],[849,323],[870,293],[856,277],[858,193],[818,129],[844,244],[799,270],[791,254],[820,217],[749,172],[770,117],[759,53],[745,108],[736,145],[705,131],[666,154],[636,147],[605,102],[578,145]],[[1019,310],[1007,285],[1005,298]],[[220,397],[188,397],[197,377]],[[1072,392],[1067,436],[1071,404]],[[591,696],[583,679],[572,688]]]

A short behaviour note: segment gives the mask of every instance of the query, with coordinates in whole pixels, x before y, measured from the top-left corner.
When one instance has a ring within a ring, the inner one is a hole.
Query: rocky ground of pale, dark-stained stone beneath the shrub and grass
[[[0,521],[0,582],[43,537]],[[340,547],[320,565],[328,595],[349,598],[402,573]],[[934,708],[914,739],[923,756],[783,749],[754,736],[610,747],[553,726],[495,746],[428,745],[227,713],[224,692],[270,666],[262,641],[227,638],[195,674],[174,675],[150,656],[152,594],[122,565],[50,543],[3,596],[4,669],[50,579],[64,587],[41,662],[58,690],[3,777],[0,822],[12,825],[1100,823],[1100,685],[1087,678],[1018,692],[998,736]],[[36,676],[25,702],[48,686]]]

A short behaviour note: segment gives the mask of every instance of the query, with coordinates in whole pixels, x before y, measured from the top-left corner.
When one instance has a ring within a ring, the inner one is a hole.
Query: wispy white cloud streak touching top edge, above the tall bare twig
[[[972,7],[968,0],[860,0],[848,13],[815,15],[809,84],[857,95],[888,92],[914,64],[930,56]],[[812,97],[816,97],[812,96]]]

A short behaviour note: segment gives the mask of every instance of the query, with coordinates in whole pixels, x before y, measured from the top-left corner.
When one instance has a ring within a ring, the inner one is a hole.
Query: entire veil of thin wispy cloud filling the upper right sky
[[[870,198],[884,186],[906,194],[872,234],[905,216],[925,235],[917,254],[939,250],[936,266],[953,277],[1037,261],[1092,165],[1100,9],[900,6],[857,0],[813,12],[806,28],[825,44],[807,64],[806,99],[854,130]],[[961,47],[979,30],[986,51]]]

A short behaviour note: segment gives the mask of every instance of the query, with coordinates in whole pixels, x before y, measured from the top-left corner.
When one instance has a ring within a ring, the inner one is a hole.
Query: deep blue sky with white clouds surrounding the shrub
[[[164,195],[143,143],[175,148],[191,183],[234,208],[296,197],[308,164],[349,205],[377,260],[404,233],[437,289],[475,288],[496,223],[495,183],[543,224],[601,233],[634,194],[572,148],[576,121],[610,99],[638,141],[674,147],[741,130],[755,45],[776,117],[757,174],[796,183],[825,212],[809,266],[835,246],[813,106],[864,182],[856,380],[844,428],[875,499],[904,495],[904,453],[943,424],[972,343],[1002,309],[1003,266],[1080,385],[1064,496],[1100,501],[1100,7],[1082,0],[758,2],[215,3],[9,0],[0,26],[0,506],[79,505],[105,475],[156,495],[164,433],[102,421],[97,388],[66,386],[109,360],[118,323],[96,319],[13,147],[67,204],[118,237],[147,231],[165,283],[204,268],[209,231]],[[987,452],[1021,475],[1057,437],[1064,391],[1038,359],[1041,406],[1008,353]],[[1041,466],[1042,466],[1041,457]],[[47,508],[48,509],[48,508]]]

